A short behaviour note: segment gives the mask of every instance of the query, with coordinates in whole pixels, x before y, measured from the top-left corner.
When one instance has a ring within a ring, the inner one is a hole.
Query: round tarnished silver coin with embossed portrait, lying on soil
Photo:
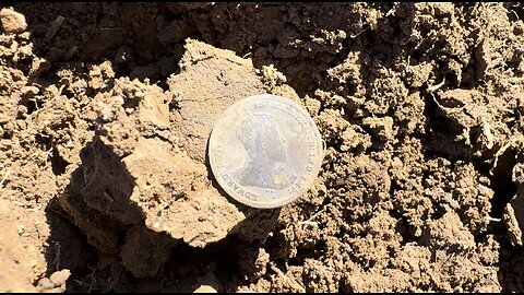
[[[299,198],[317,178],[323,156],[322,138],[309,114],[270,94],[226,108],[209,142],[221,187],[254,208],[277,208]]]

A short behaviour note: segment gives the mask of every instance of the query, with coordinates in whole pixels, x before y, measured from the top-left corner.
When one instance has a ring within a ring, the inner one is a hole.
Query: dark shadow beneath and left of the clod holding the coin
[[[192,292],[195,284],[234,291],[237,282],[260,271],[255,260],[263,245],[246,239],[267,232],[250,223],[266,219],[276,224],[279,210],[241,209],[247,219],[237,227],[243,231],[193,248],[145,227],[130,201],[134,180],[99,139],[81,151],[81,160],[66,192],[46,209],[48,275],[70,269],[67,292]]]

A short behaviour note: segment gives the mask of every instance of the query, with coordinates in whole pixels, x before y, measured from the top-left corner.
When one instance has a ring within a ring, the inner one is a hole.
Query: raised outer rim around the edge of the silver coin
[[[291,105],[295,109],[297,109],[299,113],[301,113],[302,117],[305,117],[306,121],[312,126],[313,128],[313,137],[315,138],[315,144],[318,145],[318,149],[319,151],[321,152],[317,157],[315,157],[315,164],[313,166],[314,168],[314,174],[311,174],[310,177],[308,177],[306,179],[306,181],[303,181],[303,185],[302,185],[302,188],[299,189],[296,193],[288,193],[289,197],[283,199],[283,200],[279,200],[277,202],[274,202],[274,203],[264,203],[264,202],[257,202],[257,201],[252,201],[252,200],[249,200],[248,198],[246,197],[242,197],[242,196],[239,196],[237,193],[235,193],[235,191],[233,191],[231,188],[229,188],[227,186],[227,184],[224,182],[224,180],[219,177],[219,174],[218,174],[218,170],[217,168],[215,167],[216,165],[214,165],[215,163],[215,156],[214,156],[214,153],[213,153],[213,150],[215,148],[216,144],[213,143],[213,139],[216,137],[216,132],[214,132],[216,130],[216,126],[219,125],[221,120],[224,119],[225,117],[225,113],[226,110],[230,109],[230,108],[234,108],[235,105],[237,104],[240,104],[240,103],[249,103],[247,101],[255,101],[255,99],[261,99],[261,98],[264,98],[264,99],[272,99],[272,101],[276,101],[276,102],[281,102],[281,103],[285,103],[285,104],[289,104]],[[209,154],[209,160],[210,160],[210,166],[211,166],[211,169],[212,169],[212,173],[213,173],[213,176],[215,178],[215,180],[218,182],[218,185],[221,186],[221,188],[229,196],[231,197],[233,199],[237,200],[238,202],[245,204],[245,205],[248,205],[248,206],[252,206],[252,208],[258,208],[258,209],[274,209],[274,208],[281,208],[281,206],[284,206],[299,198],[301,198],[312,186],[312,184],[314,182],[314,180],[318,178],[318,175],[320,173],[320,169],[321,169],[321,166],[322,166],[322,161],[324,158],[324,151],[323,151],[323,144],[322,144],[322,135],[320,134],[320,131],[319,131],[319,128],[317,127],[317,123],[314,122],[313,118],[311,118],[311,116],[309,115],[309,113],[302,107],[300,106],[299,104],[295,103],[294,101],[287,98],[287,97],[284,97],[284,96],[278,96],[278,95],[274,95],[274,94],[258,94],[258,95],[251,95],[251,96],[248,96],[246,98],[242,98],[242,99],[239,99],[237,102],[235,102],[234,104],[229,105],[228,107],[226,107],[224,109],[224,111],[217,117],[217,119],[215,120],[215,125],[213,126],[213,129],[211,130],[211,134],[209,137],[209,144],[207,144],[207,154]],[[314,175],[314,177],[313,177]]]

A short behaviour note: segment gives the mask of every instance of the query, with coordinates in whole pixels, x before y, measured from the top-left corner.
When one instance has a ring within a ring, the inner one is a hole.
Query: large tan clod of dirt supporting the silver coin
[[[90,244],[120,256],[140,278],[154,276],[180,241],[204,247],[233,233],[263,239],[279,212],[236,203],[213,184],[206,166],[216,116],[266,92],[251,61],[189,39],[180,68],[167,92],[117,79],[93,98],[96,133],[60,197]]]

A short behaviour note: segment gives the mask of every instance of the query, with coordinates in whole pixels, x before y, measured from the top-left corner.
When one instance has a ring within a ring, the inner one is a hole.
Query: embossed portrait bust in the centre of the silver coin
[[[286,175],[289,148],[270,116],[255,116],[237,130],[237,139],[248,154],[237,170],[242,186],[283,189],[290,185]]]

